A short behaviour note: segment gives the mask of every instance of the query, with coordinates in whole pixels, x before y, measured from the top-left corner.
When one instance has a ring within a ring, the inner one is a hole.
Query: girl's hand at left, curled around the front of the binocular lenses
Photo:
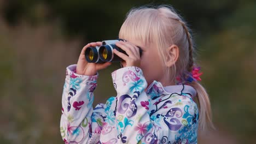
[[[110,62],[106,62],[106,63],[88,63],[85,59],[85,50],[87,49],[87,47],[90,46],[101,46],[102,42],[98,41],[96,43],[89,43],[86,46],[83,47],[80,56],[78,58],[78,62],[77,62],[77,71],[76,73],[79,75],[96,75],[98,70],[107,68],[111,63]]]

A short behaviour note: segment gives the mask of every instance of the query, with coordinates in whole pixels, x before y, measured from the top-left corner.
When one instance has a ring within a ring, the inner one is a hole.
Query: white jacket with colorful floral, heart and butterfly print
[[[62,94],[60,132],[65,143],[197,143],[199,113],[189,85],[147,88],[138,67],[112,73],[117,97],[92,108],[97,75],[69,65]],[[147,91],[145,89],[147,88]]]

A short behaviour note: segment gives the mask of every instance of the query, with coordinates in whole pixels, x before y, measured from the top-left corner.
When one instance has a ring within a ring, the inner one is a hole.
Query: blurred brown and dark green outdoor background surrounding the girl
[[[0,143],[63,143],[66,67],[84,45],[118,38],[127,11],[143,4],[173,5],[193,31],[217,127],[199,143],[255,143],[253,0],[0,0]],[[94,106],[115,96],[110,73],[118,68],[99,71]]]

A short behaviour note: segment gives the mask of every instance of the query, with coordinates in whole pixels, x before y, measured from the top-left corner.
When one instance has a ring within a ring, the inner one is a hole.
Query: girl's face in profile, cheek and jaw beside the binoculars
[[[161,59],[158,55],[158,50],[154,45],[146,47],[139,40],[125,39],[127,42],[130,42],[136,46],[141,47],[141,66],[143,75],[147,80],[148,86],[154,81],[163,82],[164,80],[164,69],[161,64]],[[125,67],[126,65],[124,65]],[[164,83],[162,83],[164,84]]]

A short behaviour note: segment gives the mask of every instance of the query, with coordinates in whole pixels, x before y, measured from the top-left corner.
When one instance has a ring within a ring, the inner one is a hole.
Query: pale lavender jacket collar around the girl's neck
[[[163,87],[161,82],[155,80],[148,86],[146,93],[150,95],[151,99],[153,100],[160,97],[161,95],[167,95],[172,93],[187,93],[191,96],[191,98],[194,98],[196,96],[195,88],[189,85],[171,85]]]

